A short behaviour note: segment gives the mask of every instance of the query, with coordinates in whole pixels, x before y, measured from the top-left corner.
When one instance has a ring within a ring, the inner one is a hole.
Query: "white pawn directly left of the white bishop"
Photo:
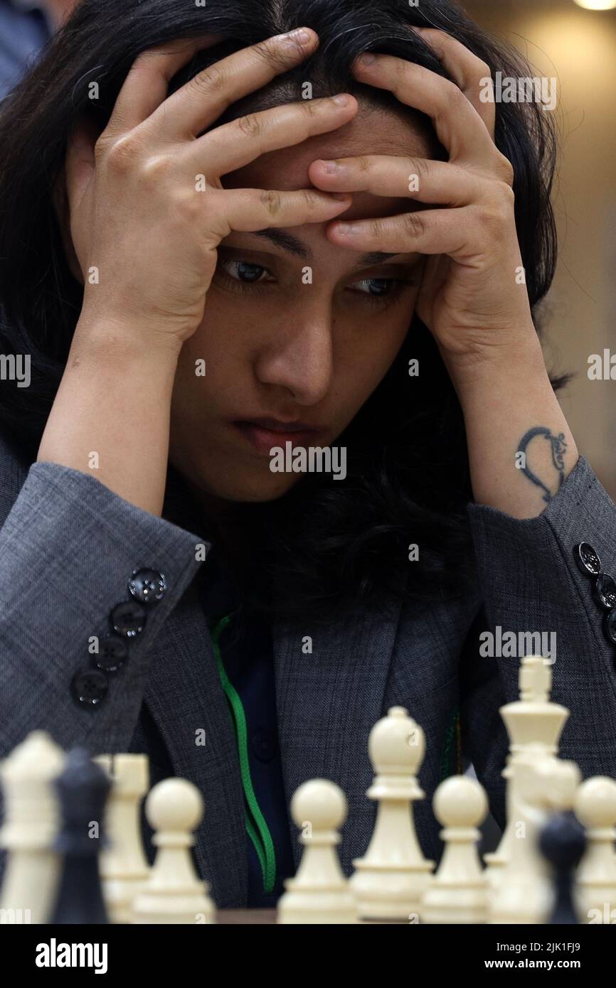
[[[304,782],[293,795],[291,814],[306,850],[295,878],[285,882],[277,922],[357,923],[357,903],[335,850],[347,815],[344,792],[325,779]]]

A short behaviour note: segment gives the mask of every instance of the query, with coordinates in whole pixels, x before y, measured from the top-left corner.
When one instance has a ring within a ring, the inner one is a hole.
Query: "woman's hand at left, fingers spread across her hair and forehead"
[[[65,172],[84,281],[82,324],[119,326],[124,334],[131,327],[148,347],[179,350],[203,320],[217,247],[231,230],[325,222],[348,208],[350,196],[340,201],[316,189],[226,190],[220,183],[267,151],[355,115],[357,101],[347,96],[344,105],[306,100],[212,126],[230,104],[304,60],[318,42],[307,35],[304,45],[280,36],[244,48],[168,97],[173,75],[220,39],[152,48],[133,63],[103,133],[76,124]]]

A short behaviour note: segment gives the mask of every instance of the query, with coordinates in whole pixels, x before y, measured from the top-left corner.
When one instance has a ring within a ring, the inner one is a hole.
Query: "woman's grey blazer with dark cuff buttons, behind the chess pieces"
[[[340,845],[346,873],[374,826],[375,808],[365,796],[372,777],[368,734],[394,704],[407,707],[426,734],[419,777],[426,799],[416,811],[426,857],[440,855],[430,800],[457,708],[465,753],[502,824],[507,739],[498,707],[517,699],[518,659],[480,656],[480,633],[496,625],[557,632],[553,699],[572,709],[561,753],[584,778],[616,777],[616,647],[603,634],[592,581],[573,556],[576,543],[590,542],[603,569],[616,573],[616,506],[580,456],[538,518],[519,521],[475,504],[468,513],[477,580],[461,601],[392,604],[378,614],[356,607],[326,631],[308,621],[274,625],[288,801],[308,779],[342,786],[349,802]],[[64,748],[144,751],[155,781],[155,724],[175,775],[204,794],[195,849],[202,875],[220,907],[241,907],[247,861],[237,751],[193,582],[208,566],[207,554],[196,560],[196,546],[204,543],[207,553],[211,543],[198,520],[187,524],[169,489],[157,518],[91,475],[30,464],[0,441],[0,757],[42,728]],[[139,567],[163,573],[168,589],[149,608],[130,660],[109,677],[106,699],[80,705],[71,681],[89,664],[89,638],[109,630],[109,615],[130,597],[128,581]],[[305,635],[312,636],[311,655],[303,651]],[[205,731],[205,744],[196,743],[198,731]]]

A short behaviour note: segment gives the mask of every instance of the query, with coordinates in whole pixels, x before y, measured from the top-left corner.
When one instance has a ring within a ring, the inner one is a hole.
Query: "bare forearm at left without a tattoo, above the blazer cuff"
[[[129,339],[128,327],[77,326],[37,459],[89,473],[160,516],[179,351]]]

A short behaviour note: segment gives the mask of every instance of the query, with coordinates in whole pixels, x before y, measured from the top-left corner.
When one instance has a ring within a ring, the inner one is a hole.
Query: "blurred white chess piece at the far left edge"
[[[8,852],[0,896],[4,922],[46,923],[59,881],[61,858],[52,850],[59,827],[53,780],[65,755],[44,731],[33,731],[0,767],[5,823],[0,847]]]

